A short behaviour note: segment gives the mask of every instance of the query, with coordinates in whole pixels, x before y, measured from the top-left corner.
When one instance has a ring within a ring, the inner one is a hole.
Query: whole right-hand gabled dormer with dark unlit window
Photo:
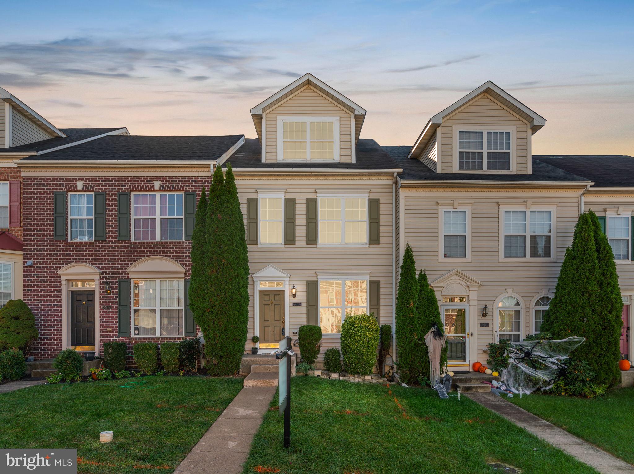
[[[546,119],[490,80],[430,118],[408,158],[437,173],[531,174]]]

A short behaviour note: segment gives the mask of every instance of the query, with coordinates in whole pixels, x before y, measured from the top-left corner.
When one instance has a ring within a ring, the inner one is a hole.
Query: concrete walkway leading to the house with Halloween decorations
[[[634,466],[612,456],[608,452],[568,433],[565,430],[542,420],[517,405],[497,397],[494,394],[465,394],[489,410],[500,414],[508,421],[533,433],[536,437],[558,447],[582,463],[592,466],[604,474],[634,474]]]

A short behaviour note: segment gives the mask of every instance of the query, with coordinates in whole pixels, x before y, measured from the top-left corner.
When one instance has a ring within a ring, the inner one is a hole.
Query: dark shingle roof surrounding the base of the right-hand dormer
[[[533,174],[493,174],[493,173],[436,173],[427,165],[416,160],[408,158],[407,155],[411,150],[410,145],[406,146],[383,146],[382,147],[399,165],[403,168],[403,174],[399,175],[401,180],[407,179],[429,179],[429,180],[446,180],[446,181],[552,181],[552,182],[578,182],[590,181],[580,177],[573,172],[559,169],[543,163],[533,158]]]

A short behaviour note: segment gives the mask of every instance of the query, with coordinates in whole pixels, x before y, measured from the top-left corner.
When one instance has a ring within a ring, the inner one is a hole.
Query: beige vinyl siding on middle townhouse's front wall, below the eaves
[[[316,280],[316,272],[332,272],[346,276],[370,273],[370,280],[380,281],[380,323],[392,324],[392,177],[380,178],[310,178],[310,177],[236,177],[242,213],[247,217],[247,198],[257,198],[258,191],[285,188],[285,198],[295,199],[295,244],[284,247],[258,247],[249,245],[251,274],[274,265],[290,274],[289,288],[295,285],[301,307],[286,308],[290,317],[288,335],[297,339],[299,326],[306,324],[306,281]],[[257,191],[256,191],[257,189]],[[316,189],[367,191],[369,197],[380,199],[380,244],[368,247],[318,248],[306,245],[306,199],[316,198]],[[249,335],[247,349],[254,334],[254,281],[250,279]],[[340,347],[339,337],[323,338],[323,352],[330,347]],[[320,356],[321,357],[321,356]]]

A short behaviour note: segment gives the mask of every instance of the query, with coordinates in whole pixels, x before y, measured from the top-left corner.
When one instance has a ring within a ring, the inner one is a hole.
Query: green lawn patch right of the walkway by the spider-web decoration
[[[634,388],[611,390],[602,399],[533,394],[513,401],[517,406],[634,464]]]

